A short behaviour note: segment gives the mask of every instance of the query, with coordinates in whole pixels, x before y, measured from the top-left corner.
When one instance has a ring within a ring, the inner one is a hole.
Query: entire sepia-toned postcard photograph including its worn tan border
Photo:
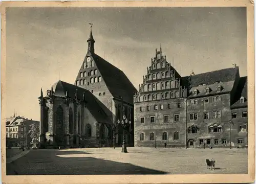
[[[4,14],[7,177],[253,174],[248,7],[6,6]]]

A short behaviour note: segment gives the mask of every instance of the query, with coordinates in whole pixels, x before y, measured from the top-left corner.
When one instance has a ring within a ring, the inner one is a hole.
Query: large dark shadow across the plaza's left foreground
[[[66,157],[68,154],[72,154],[73,157]],[[81,151],[31,150],[25,156],[7,164],[7,175],[170,174],[130,163],[94,158],[90,155],[79,157],[79,154],[88,153]]]

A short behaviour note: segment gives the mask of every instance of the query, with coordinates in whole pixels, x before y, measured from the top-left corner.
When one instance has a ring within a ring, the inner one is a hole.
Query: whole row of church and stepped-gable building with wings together
[[[139,90],[98,56],[90,32],[88,52],[74,84],[57,81],[38,98],[40,146],[247,146],[247,77],[239,67],[182,77],[155,52]],[[129,120],[123,131],[117,122]]]

